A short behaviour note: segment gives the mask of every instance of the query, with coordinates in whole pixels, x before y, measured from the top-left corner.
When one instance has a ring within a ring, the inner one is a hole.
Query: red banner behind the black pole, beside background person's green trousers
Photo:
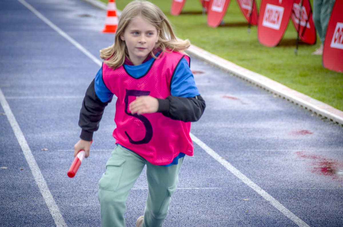
[[[315,44],[317,41],[317,34],[315,24],[312,19],[312,8],[309,0],[303,0],[303,7],[301,11],[301,20],[299,26],[300,17],[300,0],[294,0],[292,21],[296,31],[299,28],[299,38],[307,44]]]

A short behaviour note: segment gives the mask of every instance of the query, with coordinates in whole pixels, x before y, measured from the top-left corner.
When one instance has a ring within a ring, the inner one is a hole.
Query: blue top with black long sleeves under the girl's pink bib
[[[154,58],[140,65],[124,64],[125,70],[133,77],[143,76],[151,67]],[[197,121],[204,109],[205,101],[195,85],[188,62],[182,59],[175,69],[170,85],[171,95],[158,99],[158,112],[174,120]],[[82,128],[80,138],[91,141],[93,132],[98,130],[103,111],[111,102],[113,93],[106,87],[102,79],[102,68],[87,88],[80,111],[79,126]],[[182,109],[182,111],[180,111]]]

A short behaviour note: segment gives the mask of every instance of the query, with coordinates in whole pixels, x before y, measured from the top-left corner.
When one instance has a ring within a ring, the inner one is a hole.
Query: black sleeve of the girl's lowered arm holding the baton
[[[87,88],[80,110],[79,126],[82,129],[80,135],[82,140],[91,141],[93,139],[93,132],[98,130],[104,109],[111,101],[112,99],[103,103],[98,98],[95,93],[93,80]]]

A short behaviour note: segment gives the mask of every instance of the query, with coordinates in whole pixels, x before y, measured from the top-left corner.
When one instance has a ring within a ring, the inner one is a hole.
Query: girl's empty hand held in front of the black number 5
[[[155,113],[158,110],[157,98],[151,96],[139,96],[129,105],[132,114]]]

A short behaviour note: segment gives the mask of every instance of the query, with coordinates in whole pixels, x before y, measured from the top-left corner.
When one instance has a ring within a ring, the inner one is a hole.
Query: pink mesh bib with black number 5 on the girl
[[[116,143],[139,154],[154,165],[167,165],[180,153],[193,155],[190,139],[190,122],[173,120],[162,113],[132,114],[128,106],[137,97],[150,95],[166,98],[179,61],[189,57],[179,52],[164,52],[154,60],[150,70],[135,79],[123,66],[113,70],[103,64],[103,80],[107,88],[117,96],[113,132]]]

